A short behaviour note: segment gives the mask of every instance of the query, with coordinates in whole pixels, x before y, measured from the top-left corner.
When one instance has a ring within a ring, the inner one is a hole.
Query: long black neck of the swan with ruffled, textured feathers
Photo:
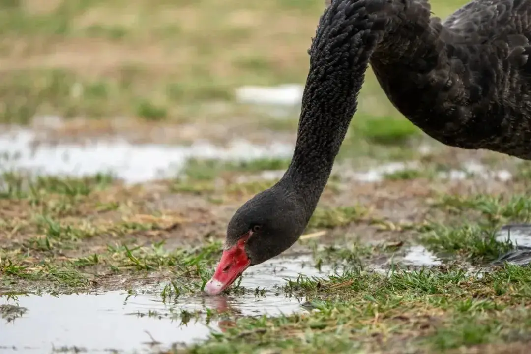
[[[356,111],[376,31],[384,27],[366,12],[365,1],[337,3],[322,16],[312,41],[295,151],[280,182],[295,189],[310,214]],[[351,8],[342,12],[345,6]],[[359,8],[352,11],[352,6]]]

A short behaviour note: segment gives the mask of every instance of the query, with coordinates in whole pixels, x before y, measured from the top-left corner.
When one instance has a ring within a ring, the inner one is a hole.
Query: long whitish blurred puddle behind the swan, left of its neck
[[[30,170],[43,175],[85,176],[109,172],[128,183],[147,182],[176,176],[191,158],[250,160],[263,157],[288,158],[290,144],[273,142],[255,145],[245,140],[226,147],[209,142],[190,146],[131,144],[122,139],[93,141],[89,144],[39,144],[33,146],[35,132],[14,129],[0,134],[2,171]]]

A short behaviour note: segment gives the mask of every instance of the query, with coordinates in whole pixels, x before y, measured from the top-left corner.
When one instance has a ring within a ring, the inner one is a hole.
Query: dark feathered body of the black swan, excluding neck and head
[[[531,1],[476,0],[442,23],[425,0],[392,3],[370,63],[400,113],[444,144],[531,159]]]

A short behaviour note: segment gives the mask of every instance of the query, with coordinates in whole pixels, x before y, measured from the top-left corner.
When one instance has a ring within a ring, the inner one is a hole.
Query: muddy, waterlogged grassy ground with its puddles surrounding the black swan
[[[525,352],[531,231],[500,228],[531,166],[434,142],[370,71],[304,235],[203,295],[296,139],[297,99],[237,92],[304,83],[323,4],[0,4],[2,352]]]

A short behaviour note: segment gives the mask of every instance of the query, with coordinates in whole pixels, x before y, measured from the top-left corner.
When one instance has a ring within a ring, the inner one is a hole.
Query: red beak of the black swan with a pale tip
[[[205,284],[204,291],[208,295],[218,295],[227,289],[251,265],[251,260],[245,252],[245,243],[249,236],[251,235],[244,236],[236,245],[223,251],[216,272]]]

